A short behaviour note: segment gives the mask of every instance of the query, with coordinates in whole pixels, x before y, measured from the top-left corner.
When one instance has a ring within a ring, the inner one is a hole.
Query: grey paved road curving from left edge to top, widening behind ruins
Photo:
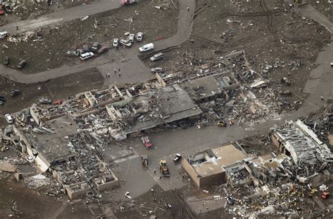
[[[190,6],[190,11],[187,10],[188,6]],[[194,11],[195,0],[179,1],[179,15],[176,34],[171,36],[169,39],[156,41],[154,43],[155,51],[164,50],[171,46],[178,46],[183,43],[183,41],[188,39],[188,36],[190,36],[192,31],[192,18]],[[138,58],[138,55],[140,55],[138,47],[141,45],[142,44],[136,43],[133,44],[131,48],[120,48],[119,50],[112,49],[108,53],[101,55],[99,58],[81,62],[79,65],[64,65],[63,67],[50,69],[37,74],[22,74],[15,69],[6,68],[0,65],[0,75],[20,83],[32,84],[81,72],[82,70],[89,69],[91,67],[97,67],[103,76],[105,76],[108,72],[112,73],[113,69],[122,69],[122,77],[113,76],[110,79],[105,79],[105,85],[145,81],[150,79],[152,74],[150,73],[150,69],[143,65],[143,62],[141,62]]]

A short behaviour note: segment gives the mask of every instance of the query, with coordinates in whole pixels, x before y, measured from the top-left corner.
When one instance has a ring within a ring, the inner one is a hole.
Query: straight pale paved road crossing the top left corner
[[[66,22],[77,18],[84,18],[86,15],[93,15],[103,11],[110,11],[121,7],[119,0],[96,0],[91,4],[81,4],[65,10],[56,11],[32,20],[22,20],[0,27],[1,31],[7,31],[11,34],[32,31],[40,27],[55,25],[60,22]],[[16,29],[18,27],[18,29]]]

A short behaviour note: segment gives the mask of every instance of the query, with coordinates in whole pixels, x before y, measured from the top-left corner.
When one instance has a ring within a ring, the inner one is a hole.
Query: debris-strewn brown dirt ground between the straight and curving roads
[[[83,21],[77,19],[55,27],[39,29],[30,36],[33,40],[39,35],[42,41],[13,43],[2,39],[0,45],[8,48],[4,48],[3,53],[0,53],[0,60],[8,56],[9,67],[12,68],[16,68],[20,60],[27,60],[27,66],[21,70],[25,74],[34,74],[62,65],[75,65],[81,60],[77,56],[67,55],[67,51],[92,46],[96,41],[112,48],[113,39],[125,38],[125,32],[143,32],[143,43],[155,41],[157,37],[168,38],[176,32],[177,14],[178,11],[174,8],[157,10],[152,1],[141,1],[140,4],[126,7],[126,10],[117,8]],[[147,20],[145,15],[150,15],[150,19]],[[129,22],[129,18],[133,19],[133,22]],[[96,22],[98,25],[94,27]],[[121,46],[120,49],[126,48]]]

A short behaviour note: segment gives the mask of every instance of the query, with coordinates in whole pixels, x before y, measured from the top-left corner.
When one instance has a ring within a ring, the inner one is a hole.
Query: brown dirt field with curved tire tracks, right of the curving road
[[[180,48],[166,51],[164,60],[147,61],[147,65],[164,67],[169,74],[194,70],[223,55],[244,50],[256,72],[273,66],[268,75],[263,75],[270,79],[272,87],[298,95],[287,100],[306,98],[301,89],[316,66],[320,48],[330,41],[325,27],[297,13],[292,15],[287,6],[275,5],[274,1],[240,2],[197,1],[190,37],[194,42],[189,39]],[[278,8],[273,10],[274,7]],[[280,84],[282,77],[287,77],[292,86]]]

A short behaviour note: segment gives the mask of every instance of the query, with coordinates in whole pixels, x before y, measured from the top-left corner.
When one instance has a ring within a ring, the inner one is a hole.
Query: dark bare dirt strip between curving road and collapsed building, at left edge
[[[7,102],[0,106],[0,114],[18,112],[41,97],[48,97],[54,101],[69,98],[83,91],[102,88],[103,81],[103,76],[96,68],[38,84],[18,84],[0,77],[0,95],[7,99]],[[22,94],[12,98],[10,93],[15,89],[22,91]],[[0,126],[5,124],[4,117],[1,116]]]

